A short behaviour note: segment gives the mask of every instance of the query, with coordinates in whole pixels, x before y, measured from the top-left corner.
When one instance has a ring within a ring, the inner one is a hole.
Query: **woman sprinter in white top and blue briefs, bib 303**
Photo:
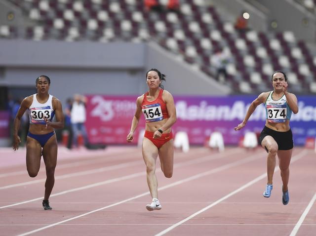
[[[40,76],[36,79],[38,93],[24,98],[14,119],[13,149],[19,149],[21,142],[17,132],[21,118],[29,112],[30,128],[26,140],[26,168],[30,177],[37,176],[40,170],[40,157],[43,156],[46,168],[45,195],[42,202],[44,210],[51,210],[48,198],[53,189],[57,162],[57,140],[55,129],[64,127],[64,114],[61,102],[48,94],[50,79]],[[52,119],[56,115],[56,122]]]

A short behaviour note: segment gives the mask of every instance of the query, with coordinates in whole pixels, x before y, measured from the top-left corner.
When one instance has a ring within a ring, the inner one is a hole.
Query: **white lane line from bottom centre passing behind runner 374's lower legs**
[[[294,156],[294,157],[292,158],[292,160],[291,160],[291,163],[293,163],[294,161],[300,159],[301,157],[304,157],[304,155],[305,155],[306,153],[307,153],[307,151],[304,150],[303,152],[301,152],[301,153],[299,153],[298,155]],[[276,172],[276,171],[278,171],[278,170],[279,170],[279,167],[277,166],[277,167],[275,168],[275,171],[274,171],[274,172]],[[166,233],[170,232],[170,231],[173,230],[174,228],[176,228],[176,227],[182,225],[183,223],[187,222],[188,220],[191,220],[192,218],[196,217],[198,214],[203,213],[204,211],[208,210],[209,208],[211,208],[211,207],[213,207],[213,206],[219,204],[220,202],[224,201],[225,199],[227,199],[227,198],[229,198],[229,197],[232,197],[233,195],[239,193],[240,191],[242,191],[242,190],[248,188],[249,186],[253,185],[254,183],[256,183],[256,182],[258,182],[258,181],[260,181],[260,180],[262,180],[262,179],[264,179],[264,178],[266,178],[266,177],[267,177],[267,173],[264,173],[264,174],[258,176],[257,178],[255,178],[255,179],[251,180],[250,182],[244,184],[243,186],[241,186],[241,187],[238,188],[237,190],[235,190],[235,191],[229,193],[228,195],[226,195],[226,196],[224,196],[224,197],[221,197],[221,198],[218,199],[217,201],[214,201],[212,204],[210,204],[210,205],[204,207],[203,209],[201,209],[201,210],[197,211],[196,213],[194,213],[194,214],[188,216],[187,218],[185,218],[185,219],[179,221],[178,223],[176,223],[176,224],[170,226],[169,228],[167,228],[167,229],[165,229],[165,230],[159,232],[159,233],[156,234],[155,236],[162,236],[162,235],[165,235]]]

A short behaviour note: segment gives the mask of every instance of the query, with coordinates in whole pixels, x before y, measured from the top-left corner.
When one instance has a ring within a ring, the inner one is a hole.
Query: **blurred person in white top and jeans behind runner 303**
[[[70,119],[73,131],[73,143],[75,147],[78,147],[79,133],[82,135],[85,147],[88,147],[88,136],[84,125],[86,120],[86,101],[87,99],[85,96],[75,94],[74,101],[71,106]]]

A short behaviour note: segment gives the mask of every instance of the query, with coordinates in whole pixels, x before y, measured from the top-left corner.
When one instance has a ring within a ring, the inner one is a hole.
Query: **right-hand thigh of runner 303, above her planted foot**
[[[43,147],[43,159],[46,167],[56,167],[57,149],[57,140],[54,134],[47,140]]]

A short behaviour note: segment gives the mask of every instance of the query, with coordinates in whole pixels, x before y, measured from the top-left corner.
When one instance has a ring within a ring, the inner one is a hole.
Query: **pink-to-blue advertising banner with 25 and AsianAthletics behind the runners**
[[[94,144],[127,144],[126,136],[130,131],[136,109],[137,96],[88,95],[87,121],[89,141]],[[226,97],[174,96],[177,122],[174,133],[186,131],[190,144],[202,145],[214,131],[223,134],[225,144],[236,145],[245,132],[260,134],[266,120],[263,104],[258,106],[247,125],[236,132],[244,118],[248,106],[256,98],[254,95]],[[316,99],[301,96],[299,113],[292,114],[291,129],[294,143],[304,145],[307,137],[316,136]],[[133,144],[137,144],[139,132],[145,128],[144,116],[136,129]]]

